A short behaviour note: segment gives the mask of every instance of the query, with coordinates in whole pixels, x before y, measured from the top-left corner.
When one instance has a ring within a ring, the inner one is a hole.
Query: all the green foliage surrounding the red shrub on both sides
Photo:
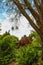
[[[41,40],[36,32],[32,32],[29,37],[32,43],[18,48],[17,37],[8,33],[0,35],[0,65],[7,65],[12,60],[20,65],[36,65],[41,55]],[[39,62],[43,65],[42,61]]]

